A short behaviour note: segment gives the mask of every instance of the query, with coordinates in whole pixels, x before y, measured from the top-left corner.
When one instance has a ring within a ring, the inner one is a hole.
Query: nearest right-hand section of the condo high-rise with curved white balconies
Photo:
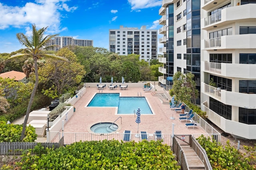
[[[256,139],[255,3],[201,0],[201,109],[247,139]]]

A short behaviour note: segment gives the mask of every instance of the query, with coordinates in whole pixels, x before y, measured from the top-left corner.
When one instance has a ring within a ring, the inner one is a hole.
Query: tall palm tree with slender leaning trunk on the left
[[[36,26],[32,25],[32,36],[30,38],[28,36],[25,36],[23,33],[16,34],[16,37],[19,40],[19,42],[25,46],[24,53],[18,53],[16,55],[12,55],[10,58],[8,58],[8,60],[9,60],[14,57],[26,56],[26,57],[32,57],[34,60],[34,69],[35,69],[34,71],[35,71],[36,81],[35,81],[35,85],[34,85],[32,93],[31,93],[31,96],[30,96],[30,101],[28,103],[28,108],[27,108],[26,116],[25,116],[24,123],[23,123],[20,141],[22,141],[25,137],[25,130],[26,130],[27,122],[28,122],[28,116],[29,116],[30,109],[32,107],[32,103],[34,101],[34,97],[36,95],[36,89],[38,86],[38,63],[37,63],[38,59],[40,59],[42,57],[54,57],[54,58],[58,58],[58,59],[64,59],[64,58],[58,57],[56,55],[45,53],[47,49],[50,49],[51,47],[56,46],[56,45],[48,45],[47,42],[51,38],[54,38],[55,36],[58,35],[58,34],[55,34],[55,35],[48,35],[48,36],[44,37],[44,33],[47,28],[48,27],[36,30]]]

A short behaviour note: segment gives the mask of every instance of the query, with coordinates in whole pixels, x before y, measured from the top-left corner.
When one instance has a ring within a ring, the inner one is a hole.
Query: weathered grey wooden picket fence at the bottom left
[[[21,155],[24,150],[33,149],[38,142],[0,142],[0,154],[1,155]],[[59,142],[42,142],[41,145],[44,148],[59,148],[63,146],[63,137]]]

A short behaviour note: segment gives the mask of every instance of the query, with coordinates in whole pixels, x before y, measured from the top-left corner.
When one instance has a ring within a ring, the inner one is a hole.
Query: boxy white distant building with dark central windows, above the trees
[[[109,30],[109,51],[119,55],[138,54],[140,60],[157,59],[157,30],[147,30],[146,26]]]

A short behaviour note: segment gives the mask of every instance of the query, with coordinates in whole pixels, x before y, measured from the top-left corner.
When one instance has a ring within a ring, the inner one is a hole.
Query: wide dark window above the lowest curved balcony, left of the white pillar
[[[210,109],[225,119],[231,120],[232,107],[210,97]]]

